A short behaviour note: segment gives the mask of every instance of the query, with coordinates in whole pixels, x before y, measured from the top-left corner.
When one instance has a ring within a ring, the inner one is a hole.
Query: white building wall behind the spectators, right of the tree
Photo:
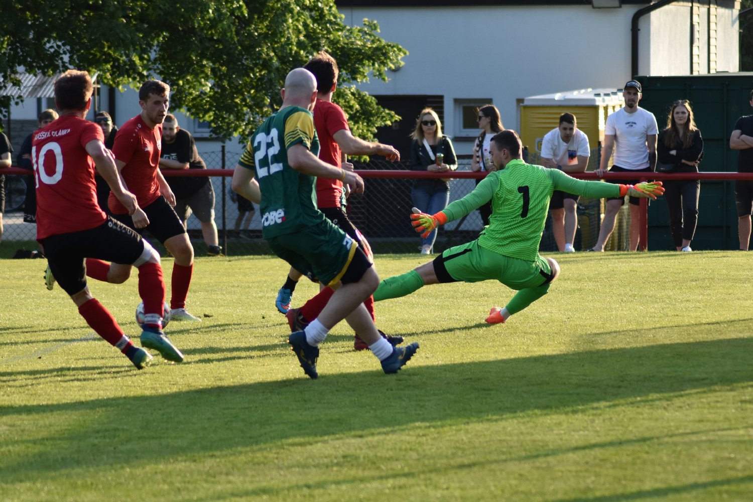
[[[359,87],[373,95],[443,95],[444,128],[459,129],[456,99],[491,98],[505,126],[517,128],[517,104],[527,96],[584,88],[621,88],[630,75],[630,25],[644,6],[593,9],[562,7],[339,8],[345,23],[376,20],[380,35],[409,51],[389,82]],[[639,20],[639,75],[691,71],[690,2],[668,5]],[[705,11],[705,9],[702,9]],[[718,69],[737,64],[736,17],[718,8],[725,35],[718,41]],[[726,24],[725,24],[726,23]],[[706,38],[706,17],[701,23]],[[705,43],[705,42],[704,42]],[[701,62],[707,68],[706,45]],[[721,60],[724,58],[724,60]],[[456,141],[458,153],[471,144]]]

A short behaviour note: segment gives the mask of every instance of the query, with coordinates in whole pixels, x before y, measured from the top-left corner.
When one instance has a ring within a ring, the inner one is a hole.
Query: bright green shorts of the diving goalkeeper
[[[537,288],[552,279],[546,258],[511,258],[480,247],[477,240],[445,250],[434,260],[434,272],[440,282],[496,279],[514,290]]]

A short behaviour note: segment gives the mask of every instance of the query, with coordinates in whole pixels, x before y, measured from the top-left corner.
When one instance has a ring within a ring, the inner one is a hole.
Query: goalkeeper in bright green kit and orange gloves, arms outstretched
[[[503,323],[547,294],[559,275],[555,260],[538,255],[553,190],[593,198],[630,195],[656,199],[664,192],[661,181],[636,185],[582,181],[557,169],[526,164],[521,159],[520,137],[511,129],[494,135],[490,149],[499,171],[489,173],[475,190],[436,214],[413,208],[410,215],[416,232],[425,235],[491,201],[489,225],[475,241],[447,249],[403,275],[384,279],[373,294],[375,301],[404,297],[428,284],[496,279],[517,290],[504,308],[493,307],[486,318],[489,324]]]

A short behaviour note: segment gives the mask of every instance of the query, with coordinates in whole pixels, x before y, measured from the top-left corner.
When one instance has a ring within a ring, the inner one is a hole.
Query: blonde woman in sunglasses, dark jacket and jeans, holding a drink
[[[424,108],[416,120],[416,129],[410,135],[413,145],[410,147],[410,162],[416,171],[448,172],[458,169],[453,142],[442,135],[442,123],[437,113],[431,108]],[[422,212],[434,214],[447,207],[450,201],[449,180],[440,178],[416,179],[410,196],[413,206]],[[421,254],[431,254],[437,231],[421,239]]]

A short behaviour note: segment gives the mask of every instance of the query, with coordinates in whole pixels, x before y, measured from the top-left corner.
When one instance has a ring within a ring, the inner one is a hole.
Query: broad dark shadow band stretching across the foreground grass
[[[400,431],[416,423],[498,421],[527,412],[632,406],[630,400],[639,400],[638,406],[648,401],[671,400],[677,393],[712,392],[709,388],[713,386],[750,385],[751,353],[753,339],[721,339],[434,367],[409,364],[398,376],[385,376],[377,370],[356,375],[328,374],[320,361],[322,376],[316,382],[300,374],[285,381],[159,396],[0,406],[0,422],[6,424],[28,423],[37,417],[47,420],[47,414],[52,413],[80,415],[78,428],[50,437],[45,449],[3,462],[0,482],[13,482],[18,476],[44,479],[56,473],[70,474],[71,469],[77,468],[159,463],[175,455],[266,449],[281,441],[306,446],[331,435],[364,434],[371,428]],[[419,351],[416,361],[421,356]],[[288,364],[298,370],[294,357],[289,357]],[[93,368],[90,371],[96,373]],[[374,409],[389,421],[375,421]],[[169,426],[164,427],[166,424]],[[121,441],[136,436],[139,449],[118,448]],[[9,448],[28,442],[32,440],[10,440],[0,446]],[[105,446],[105,458],[91,455]],[[552,450],[544,455],[564,455],[581,448]],[[61,462],[61,458],[75,462]],[[681,492],[690,488],[662,488],[672,489]],[[666,492],[656,496],[662,494]],[[637,500],[651,496],[641,492],[577,500]]]

